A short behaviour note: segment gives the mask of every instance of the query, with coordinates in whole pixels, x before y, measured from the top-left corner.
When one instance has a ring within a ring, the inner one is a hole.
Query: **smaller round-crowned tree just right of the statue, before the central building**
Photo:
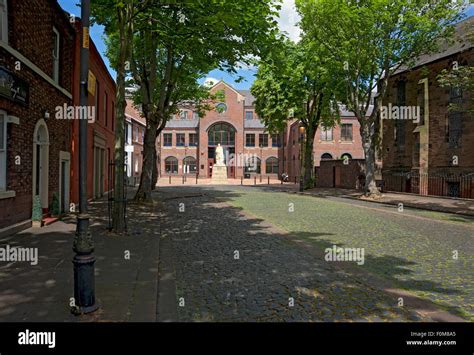
[[[333,127],[339,118],[336,94],[342,70],[326,60],[323,47],[309,41],[282,40],[258,63],[251,88],[255,109],[268,129],[282,132],[295,119],[304,127],[301,175],[309,187],[313,174],[313,145],[319,125]],[[301,139],[301,137],[300,137]]]

